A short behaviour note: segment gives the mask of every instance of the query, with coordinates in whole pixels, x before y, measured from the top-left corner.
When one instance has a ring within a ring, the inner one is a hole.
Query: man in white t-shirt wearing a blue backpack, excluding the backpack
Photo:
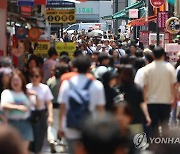
[[[60,136],[65,135],[70,154],[73,154],[73,144],[81,138],[81,132],[76,128],[68,127],[67,113],[69,112],[72,103],[69,101],[69,93],[72,90],[72,85],[76,91],[82,92],[83,87],[89,81],[86,73],[89,71],[91,61],[88,57],[82,56],[75,59],[74,65],[78,69],[79,74],[72,77],[69,81],[66,80],[62,83],[58,96],[58,102],[60,103],[59,134]],[[92,80],[88,88],[88,93],[90,96],[88,106],[89,111],[91,113],[94,113],[95,111],[104,112],[105,96],[102,83],[97,80]]]

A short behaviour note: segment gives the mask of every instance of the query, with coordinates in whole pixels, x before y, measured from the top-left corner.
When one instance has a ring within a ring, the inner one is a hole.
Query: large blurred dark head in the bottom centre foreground
[[[113,154],[121,143],[120,128],[113,116],[94,115],[82,125],[82,143],[87,154]]]

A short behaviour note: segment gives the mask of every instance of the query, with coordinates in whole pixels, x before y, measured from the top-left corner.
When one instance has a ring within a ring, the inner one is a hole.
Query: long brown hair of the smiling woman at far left
[[[21,79],[21,81],[22,81],[22,91],[26,94],[26,93],[27,93],[27,89],[26,89],[26,79],[25,79],[24,75],[22,74],[22,72],[19,71],[19,70],[17,70],[17,69],[15,69],[15,70],[13,71],[12,76],[10,77],[8,89],[14,90],[14,89],[12,88],[11,82],[12,82],[12,79],[13,79],[13,77],[14,77],[15,75],[18,75],[18,76],[20,77],[20,79]]]

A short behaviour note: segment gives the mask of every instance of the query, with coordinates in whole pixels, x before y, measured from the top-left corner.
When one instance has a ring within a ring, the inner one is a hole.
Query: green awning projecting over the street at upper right
[[[136,3],[134,3],[134,4],[130,5],[130,6],[126,7],[124,10],[115,13],[112,16],[112,18],[113,19],[123,19],[123,18],[128,19],[129,18],[129,15],[128,15],[129,14],[129,9],[138,9],[140,7],[143,7],[143,6],[145,6],[144,1],[143,0],[138,1],[138,2],[136,2]]]

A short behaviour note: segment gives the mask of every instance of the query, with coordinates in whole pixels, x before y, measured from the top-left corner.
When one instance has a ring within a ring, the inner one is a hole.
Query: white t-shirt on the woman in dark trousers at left
[[[40,102],[40,110],[46,109],[47,101],[53,100],[53,95],[49,87],[45,84],[40,83],[39,86],[35,87],[32,83],[27,84],[27,89],[34,90],[37,92],[38,99]]]

